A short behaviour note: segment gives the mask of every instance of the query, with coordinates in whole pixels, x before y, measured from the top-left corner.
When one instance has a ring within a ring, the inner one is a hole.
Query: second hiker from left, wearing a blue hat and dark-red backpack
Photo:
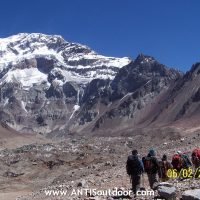
[[[160,170],[158,159],[156,158],[155,150],[151,149],[146,157],[143,157],[144,170],[147,173],[149,185],[154,188],[155,183],[158,183],[157,174]]]

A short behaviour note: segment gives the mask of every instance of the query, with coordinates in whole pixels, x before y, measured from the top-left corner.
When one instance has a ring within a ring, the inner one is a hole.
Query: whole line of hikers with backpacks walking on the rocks
[[[191,159],[187,153],[177,151],[172,157],[171,162],[168,161],[166,154],[159,160],[154,149],[150,149],[148,155],[142,159],[139,157],[138,151],[133,150],[132,155],[128,156],[126,164],[127,174],[131,178],[134,194],[140,190],[141,179],[143,178],[144,173],[147,174],[150,188],[154,189],[155,185],[158,183],[158,178],[162,182],[167,181],[170,178],[168,174],[170,169],[180,173],[182,169],[189,169],[191,167],[199,169],[200,149],[195,149],[192,152]]]

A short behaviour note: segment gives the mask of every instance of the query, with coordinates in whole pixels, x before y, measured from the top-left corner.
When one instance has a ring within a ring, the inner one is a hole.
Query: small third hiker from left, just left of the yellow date
[[[162,160],[159,162],[160,170],[158,171],[159,178],[162,182],[168,181],[167,171],[172,169],[172,164],[167,160],[167,155],[164,154]]]

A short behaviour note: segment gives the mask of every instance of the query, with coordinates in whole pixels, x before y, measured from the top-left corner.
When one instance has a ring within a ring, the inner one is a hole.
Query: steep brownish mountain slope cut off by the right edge
[[[153,124],[173,124],[184,128],[197,126],[200,122],[199,85],[200,63],[196,63],[169,89]]]

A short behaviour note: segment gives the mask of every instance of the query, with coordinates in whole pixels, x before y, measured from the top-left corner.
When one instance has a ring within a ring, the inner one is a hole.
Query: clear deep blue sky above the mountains
[[[199,0],[1,0],[0,37],[62,35],[108,56],[139,53],[182,71],[200,61]]]

